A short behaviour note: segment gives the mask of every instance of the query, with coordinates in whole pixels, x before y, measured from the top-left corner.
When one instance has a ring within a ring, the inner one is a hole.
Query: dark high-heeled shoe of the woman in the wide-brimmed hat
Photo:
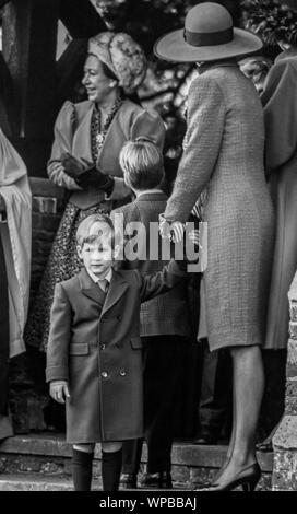
[[[223,483],[213,483],[204,491],[231,491],[241,486],[243,491],[254,491],[261,478],[261,468],[258,463],[251,464],[238,471],[230,480]]]

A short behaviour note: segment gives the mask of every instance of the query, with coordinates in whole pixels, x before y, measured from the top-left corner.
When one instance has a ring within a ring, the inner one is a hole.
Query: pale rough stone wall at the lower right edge
[[[297,272],[289,293],[289,340],[287,358],[286,407],[273,437],[274,491],[297,491]]]

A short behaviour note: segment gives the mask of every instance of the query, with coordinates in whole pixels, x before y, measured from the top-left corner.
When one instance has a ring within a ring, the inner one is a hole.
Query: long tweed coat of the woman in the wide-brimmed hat
[[[264,341],[274,210],[263,145],[253,84],[236,63],[209,63],[190,85],[185,151],[165,217],[186,222],[206,187],[211,350]]]

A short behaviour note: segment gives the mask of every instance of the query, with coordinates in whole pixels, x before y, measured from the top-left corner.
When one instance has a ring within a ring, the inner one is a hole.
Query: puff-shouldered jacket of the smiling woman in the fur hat
[[[80,209],[88,209],[105,199],[104,191],[94,187],[81,189],[66,173],[55,172],[55,161],[64,152],[78,159],[93,162],[91,150],[91,120],[95,109],[94,102],[85,101],[78,104],[66,102],[55,124],[55,141],[48,163],[48,175],[54,184],[59,184],[71,191],[70,201]],[[139,137],[147,137],[162,150],[165,138],[165,125],[161,116],[126,98],[116,113],[104,144],[98,155],[97,167],[115,178],[115,187],[108,199],[119,200],[131,196],[131,189],[126,186],[119,165],[119,153],[126,141]]]

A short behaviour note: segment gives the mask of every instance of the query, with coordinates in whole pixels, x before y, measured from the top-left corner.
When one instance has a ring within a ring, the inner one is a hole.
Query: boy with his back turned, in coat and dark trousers
[[[139,241],[141,258],[127,255],[124,269],[138,269],[142,274],[161,271],[168,264],[164,256],[152,254],[161,248],[158,218],[166,209],[167,196],[159,188],[164,178],[163,156],[150,140],[128,141],[120,152],[120,164],[126,184],[136,198],[132,203],[112,211],[122,215],[126,236],[131,240],[131,227],[141,223],[145,236]],[[155,231],[152,230],[155,226]],[[128,243],[129,244],[129,243]],[[128,245],[126,245],[128,248]],[[131,247],[133,250],[133,248]],[[147,472],[143,487],[168,489],[171,487],[171,445],[178,390],[181,383],[182,358],[189,336],[187,283],[180,283],[162,296],[141,305],[140,335],[143,343],[144,375],[144,437],[147,444]],[[142,441],[123,444],[123,475],[121,483],[136,487]]]

